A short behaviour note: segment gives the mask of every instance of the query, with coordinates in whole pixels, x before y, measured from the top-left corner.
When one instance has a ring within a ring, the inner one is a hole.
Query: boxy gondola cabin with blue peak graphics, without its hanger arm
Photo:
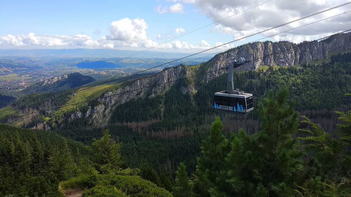
[[[216,92],[213,96],[212,108],[222,113],[244,115],[253,110],[253,96],[247,93]]]

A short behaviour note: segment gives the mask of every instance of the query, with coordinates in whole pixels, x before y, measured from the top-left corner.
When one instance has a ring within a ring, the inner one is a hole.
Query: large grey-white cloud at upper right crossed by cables
[[[257,0],[170,0],[192,4],[199,9],[199,13],[206,15],[213,21],[224,19],[228,16],[242,12],[264,1]],[[213,28],[223,34],[232,34],[233,39],[242,38],[261,30],[275,27],[277,25],[302,18],[304,16],[323,11],[325,9],[344,4],[344,0],[295,0],[295,1],[270,1],[258,7],[247,10],[228,19],[222,20]],[[302,26],[307,23],[328,18],[333,15],[341,14],[350,10],[351,5],[346,5],[331,11],[315,15],[313,17],[291,23],[270,32],[263,33],[264,36],[283,32],[294,27]],[[302,27],[287,33],[283,33],[274,39],[287,39],[298,42],[301,39],[318,39],[324,36],[337,33],[351,26],[351,13],[336,16]]]

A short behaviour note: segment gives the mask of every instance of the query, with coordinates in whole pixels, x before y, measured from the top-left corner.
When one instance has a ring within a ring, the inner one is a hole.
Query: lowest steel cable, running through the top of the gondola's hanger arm
[[[319,39],[319,40],[323,40],[323,39],[326,40],[326,39],[330,39],[330,38],[336,38],[336,37],[338,37],[338,36],[344,35],[343,33],[347,32],[347,31],[351,31],[351,29],[345,30],[345,31],[340,32],[340,33],[338,33],[338,34],[334,34],[334,35],[331,35],[331,36],[327,36],[327,37],[321,38],[321,39]],[[299,47],[309,46],[309,45],[314,44],[316,41],[317,41],[317,40],[310,41],[310,42],[304,43],[304,44],[302,44],[302,45],[298,45],[298,46],[291,47],[291,48],[289,48],[289,49],[286,49],[286,50],[283,50],[283,51],[280,51],[280,52],[276,52],[276,53],[274,53],[274,54],[266,55],[266,56],[264,56],[264,57],[272,56],[272,55],[275,55],[275,54],[278,54],[278,53],[284,53],[284,52],[286,52],[286,51],[288,51],[288,50],[291,50],[291,49],[293,49],[293,48],[299,48]],[[256,60],[260,60],[260,59],[262,59],[262,58],[264,58],[264,57],[259,57],[259,58],[257,58],[257,59],[251,60],[249,63],[252,63],[253,61],[256,61]],[[153,87],[161,86],[161,85],[164,85],[164,84],[167,84],[167,83],[173,83],[173,82],[182,81],[182,80],[185,80],[185,79],[191,79],[191,78],[195,78],[195,77],[198,77],[198,76],[201,76],[201,75],[206,75],[206,74],[209,74],[209,73],[214,73],[214,72],[217,72],[217,71],[220,71],[220,70],[225,70],[225,69],[227,69],[227,68],[221,68],[221,69],[213,70],[213,71],[210,71],[210,72],[207,72],[207,73],[201,73],[201,74],[197,74],[197,75],[193,75],[193,76],[189,76],[189,77],[184,77],[184,78],[178,79],[178,80],[168,81],[168,82],[156,84],[156,85],[153,85],[153,86],[148,86],[148,87],[144,87],[144,88],[139,88],[139,89],[135,89],[135,90],[130,90],[130,91],[126,91],[126,92],[123,92],[123,93],[117,93],[117,94],[113,94],[113,95],[110,95],[110,96],[104,96],[104,97],[100,97],[100,98],[97,98],[97,99],[91,99],[91,100],[88,100],[88,101],[82,101],[82,102],[78,102],[78,103],[73,103],[73,104],[69,104],[69,105],[65,105],[65,106],[61,106],[61,107],[57,107],[57,108],[46,109],[46,110],[43,110],[43,111],[54,110],[54,109],[60,109],[60,108],[68,107],[68,106],[74,106],[74,105],[81,104],[81,103],[87,103],[87,102],[90,102],[90,101],[95,101],[95,100],[99,100],[99,99],[104,99],[104,98],[107,98],[107,97],[114,97],[114,96],[118,96],[118,95],[121,95],[121,94],[128,94],[128,93],[131,93],[131,92],[134,92],[134,91],[143,90],[143,89],[148,89],[148,88],[153,88]],[[30,113],[30,114],[24,114],[24,115],[19,115],[19,116],[14,116],[14,117],[21,117],[21,116],[26,116],[26,115],[31,115],[31,114],[37,114],[37,113],[40,113],[40,112],[43,112],[43,111],[37,111],[37,112]]]

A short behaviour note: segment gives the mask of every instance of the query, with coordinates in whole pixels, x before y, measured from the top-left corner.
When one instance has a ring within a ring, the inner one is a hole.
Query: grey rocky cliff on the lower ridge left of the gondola
[[[175,68],[171,67],[163,70],[153,77],[146,77],[144,79],[136,80],[130,86],[117,89],[113,92],[109,91],[102,95],[101,99],[99,99],[102,104],[95,106],[93,110],[89,111],[89,114],[92,113],[92,123],[94,125],[99,125],[106,122],[110,115],[111,109],[116,104],[122,104],[133,98],[143,97],[146,94],[150,97],[154,97],[155,95],[164,93],[166,90],[168,90],[174,83],[176,83],[176,80],[183,79],[184,77],[189,77],[191,75],[191,69],[186,66],[178,66]],[[156,84],[161,85],[154,86]],[[183,94],[193,94],[194,91],[195,89],[193,86],[181,87],[181,92]]]

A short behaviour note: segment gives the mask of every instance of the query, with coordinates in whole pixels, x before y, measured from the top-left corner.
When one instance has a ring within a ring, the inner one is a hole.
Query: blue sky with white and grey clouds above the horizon
[[[149,50],[195,53],[350,1],[1,0],[0,49],[145,50],[153,47]],[[299,43],[323,38],[351,28],[349,11],[351,4],[208,52],[259,39]],[[335,16],[338,14],[342,15]],[[326,19],[329,17],[332,18]],[[278,34],[322,19],[326,20]],[[213,22],[216,23],[210,25]],[[201,29],[196,30],[198,28]],[[278,35],[271,36],[274,34]]]

